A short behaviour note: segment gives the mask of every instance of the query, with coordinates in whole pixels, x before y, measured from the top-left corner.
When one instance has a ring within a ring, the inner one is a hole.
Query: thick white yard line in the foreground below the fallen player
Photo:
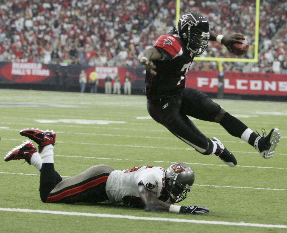
[[[132,215],[93,214],[93,213],[83,213],[83,212],[51,211],[51,210],[40,210],[40,209],[34,210],[34,209],[0,208],[0,211],[41,213],[41,214],[52,214],[52,215],[69,215],[69,216],[86,216],[86,217],[124,218],[124,219],[131,219],[131,220],[165,221],[165,222],[176,222],[176,223],[196,223],[196,224],[227,225],[227,226],[252,226],[252,227],[287,229],[287,225],[272,225],[272,224],[259,224],[259,223],[244,223],[244,222],[236,223],[236,222],[225,222],[225,221],[206,221],[206,220],[192,220],[192,219],[179,219],[179,218],[161,218],[161,217],[138,217],[138,216],[132,216]]]

